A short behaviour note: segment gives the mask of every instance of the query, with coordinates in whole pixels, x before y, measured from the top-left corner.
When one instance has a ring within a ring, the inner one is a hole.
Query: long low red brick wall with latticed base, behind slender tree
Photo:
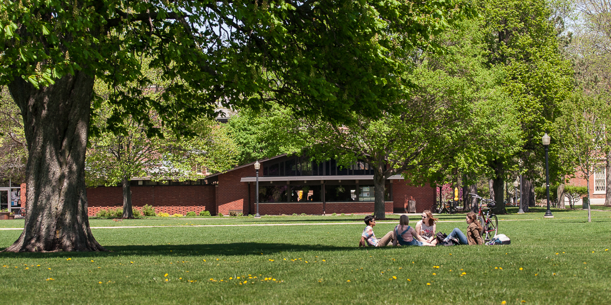
[[[159,185],[131,187],[131,203],[134,209],[142,210],[145,204],[155,207],[156,212],[199,213],[201,210],[215,211],[213,185]],[[101,209],[123,207],[121,187],[87,188],[87,213],[94,216]]]

